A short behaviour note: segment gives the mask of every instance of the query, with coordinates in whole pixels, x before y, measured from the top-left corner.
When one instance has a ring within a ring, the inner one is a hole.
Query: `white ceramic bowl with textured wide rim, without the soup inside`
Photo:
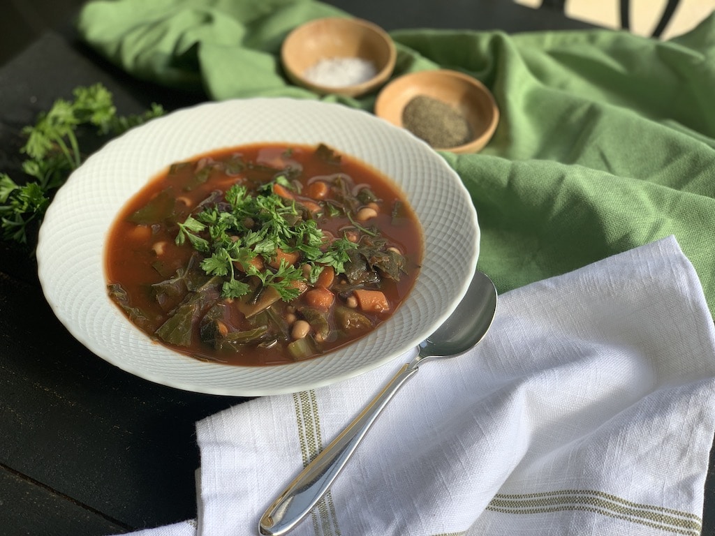
[[[392,178],[423,226],[423,264],[393,317],[345,349],[276,367],[200,362],[152,342],[109,299],[104,244],[119,209],[169,164],[255,142],[323,142]],[[407,131],[340,104],[260,98],[175,111],[109,142],[59,189],[40,229],[37,261],[55,314],[99,357],[159,384],[249,397],[337,382],[416,347],[466,292],[479,237],[475,209],[458,175]]]

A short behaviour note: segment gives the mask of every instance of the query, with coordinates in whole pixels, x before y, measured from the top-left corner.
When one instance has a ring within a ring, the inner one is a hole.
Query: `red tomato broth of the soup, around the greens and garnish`
[[[212,169],[205,177],[205,182],[196,183],[197,170],[202,167],[212,168],[212,164],[216,162],[231,162],[238,157],[241,162],[253,163],[254,167],[236,172]],[[422,259],[423,239],[418,219],[396,184],[358,159],[345,154],[340,154],[339,157],[340,163],[336,164],[317,157],[316,148],[312,146],[252,144],[202,154],[172,166],[171,171],[167,169],[158,174],[125,204],[109,232],[105,257],[107,282],[108,285],[121,285],[128,300],[124,307],[118,303],[119,307],[149,337],[177,352],[197,359],[243,366],[295,362],[295,359],[286,353],[282,344],[273,347],[252,344],[243,347],[240,351],[215,349],[200,340],[200,316],[194,319],[192,342],[189,345],[171,344],[161,340],[155,332],[167,320],[169,312],[180,304],[182,297],[159,303],[151,291],[152,284],[159,284],[173,277],[177,270],[185,267],[195,254],[188,243],[177,245],[175,242],[178,232],[176,222],[184,222],[197,205],[217,189],[222,191],[222,195],[233,184],[243,184],[252,190],[275,179],[275,176],[280,173],[277,173],[277,170],[289,169],[295,173],[292,179],[299,182],[301,186],[300,193],[294,194],[297,202],[310,202],[310,199],[302,195],[305,192],[321,192],[321,194],[324,192],[325,189],[322,187],[311,188],[312,183],[330,182],[336,177],[347,179],[348,182],[352,179],[353,190],[368,187],[380,200],[377,217],[370,219],[365,225],[369,224],[371,229],[373,227],[380,229],[381,236],[387,239],[390,246],[396,247],[405,259],[405,272],[401,274],[399,281],[385,277],[380,283],[380,290],[387,297],[390,309],[385,312],[361,311],[370,319],[372,325],[369,329],[355,329],[350,333],[339,333],[337,336],[332,330],[330,338],[320,341],[319,351],[312,354],[310,358],[332,352],[364,337],[390,318],[413,288]],[[295,172],[296,169],[300,170],[300,174]],[[191,184],[190,189],[187,187],[188,184]],[[317,201],[320,202],[322,199]],[[393,224],[392,211],[396,202],[400,203],[402,208],[398,224]],[[169,214],[169,217],[152,223],[137,224],[131,221],[132,215],[151,204],[163,207],[164,216]],[[355,221],[354,219],[351,221],[344,214],[328,217],[325,212],[327,211],[315,215],[317,227],[334,237],[340,236],[345,227],[352,227]],[[354,218],[354,215],[352,217]],[[338,304],[345,304],[345,298],[338,294],[341,284],[345,284],[345,278],[342,274],[338,274],[331,290],[336,294],[335,301]],[[300,318],[300,313],[295,314],[290,308],[299,309],[306,294],[301,294],[290,304],[279,300],[275,308],[284,316],[294,314]],[[224,307],[225,317],[220,319],[220,322],[225,321],[228,325],[240,329],[250,329],[245,315],[237,307],[232,307],[232,300],[219,301],[228,303]],[[127,307],[132,310],[138,309],[146,318],[137,321]],[[205,312],[204,310],[203,313]],[[334,314],[332,310],[327,314],[331,327],[335,322]]]

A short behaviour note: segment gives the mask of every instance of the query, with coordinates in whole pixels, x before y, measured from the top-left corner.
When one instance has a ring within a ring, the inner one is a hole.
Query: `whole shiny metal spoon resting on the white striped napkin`
[[[456,357],[483,339],[496,312],[497,292],[482,272],[475,272],[457,309],[419,345],[418,355],[395,374],[382,391],[350,425],[315,457],[262,515],[258,532],[280,536],[291,530],[325,495],[358,444],[388,405],[393,395],[413,377],[420,364],[433,359]]]

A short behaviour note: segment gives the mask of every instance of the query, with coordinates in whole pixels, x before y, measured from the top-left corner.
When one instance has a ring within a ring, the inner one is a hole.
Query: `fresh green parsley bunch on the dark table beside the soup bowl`
[[[18,184],[0,173],[0,229],[5,240],[26,244],[56,189],[82,164],[86,154],[79,147],[79,129],[89,126],[99,136],[113,137],[164,114],[162,106],[152,104],[143,114],[120,116],[112,93],[102,84],[77,87],[73,97],[57,99],[34,125],[22,129],[26,142],[21,152],[27,156],[22,171],[28,180]]]

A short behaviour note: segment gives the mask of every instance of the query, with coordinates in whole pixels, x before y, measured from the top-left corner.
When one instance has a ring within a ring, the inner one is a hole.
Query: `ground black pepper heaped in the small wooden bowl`
[[[449,104],[419,95],[403,109],[403,125],[435,148],[457,147],[473,139],[465,116]]]

